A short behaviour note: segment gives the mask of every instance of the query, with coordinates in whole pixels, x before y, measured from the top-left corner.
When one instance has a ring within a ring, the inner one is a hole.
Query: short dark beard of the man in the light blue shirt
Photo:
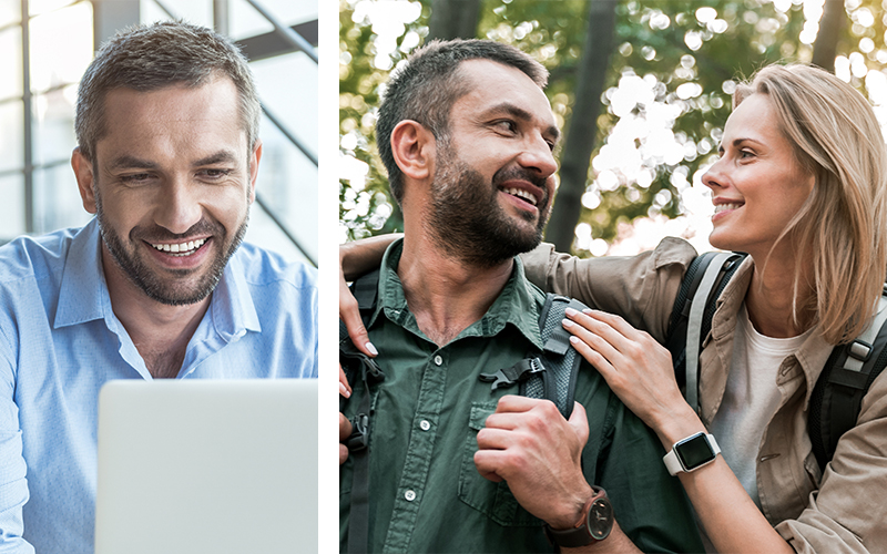
[[[102,234],[102,240],[104,240],[108,250],[111,253],[111,257],[114,258],[118,267],[123,270],[126,277],[147,295],[149,298],[167,306],[196,304],[215,290],[228,259],[243,242],[247,224],[249,223],[249,212],[247,207],[246,218],[230,240],[227,238],[227,229],[225,229],[224,226],[217,223],[210,223],[206,219],[201,219],[185,233],[179,235],[170,233],[160,226],[150,229],[134,227],[130,230],[129,240],[130,244],[134,246],[135,250],[130,254],[123,246],[123,240],[121,240],[120,235],[118,235],[116,230],[114,230],[104,217],[101,198],[98,191],[95,191],[95,211],[99,216],[99,228]],[[140,255],[140,248],[143,242],[155,244],[162,242],[169,243],[193,237],[198,234],[212,235],[213,242],[220,240],[222,244],[217,245],[215,259],[213,259],[208,270],[206,270],[194,287],[182,289],[182,287],[177,286],[177,283],[175,283],[176,277],[187,277],[191,275],[191,269],[166,270],[165,273],[167,273],[170,277],[164,279],[149,269]],[[225,242],[227,242],[227,248],[225,247]]]

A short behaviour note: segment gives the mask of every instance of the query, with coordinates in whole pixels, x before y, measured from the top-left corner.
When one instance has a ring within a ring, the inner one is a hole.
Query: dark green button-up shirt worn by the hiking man
[[[492,392],[478,376],[541,348],[544,295],[524,279],[517,260],[483,318],[438,348],[407,308],[395,273],[400,253],[395,243],[383,260],[368,326],[386,375],[371,391],[369,552],[553,552],[541,521],[517,503],[507,483],[483,479],[473,463],[477,431],[501,396],[517,393],[517,387]],[[608,491],[619,524],[642,551],[702,552],[690,504],[665,471],[659,440],[597,371],[582,369],[577,401],[585,407],[591,430],[582,454],[587,479]],[[355,387],[348,418],[366,393]],[[349,459],[339,474],[343,552],[351,471]]]

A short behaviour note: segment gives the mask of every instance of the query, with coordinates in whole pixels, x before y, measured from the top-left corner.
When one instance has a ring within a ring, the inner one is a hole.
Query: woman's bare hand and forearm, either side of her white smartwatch
[[[621,317],[568,311],[564,327],[575,349],[594,366],[613,392],[659,435],[666,451],[705,425],[684,401],[671,355]],[[794,553],[758,511],[723,456],[679,479],[718,552]]]

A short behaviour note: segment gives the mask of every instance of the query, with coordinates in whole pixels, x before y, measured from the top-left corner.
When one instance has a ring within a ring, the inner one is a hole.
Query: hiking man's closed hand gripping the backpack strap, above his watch
[[[478,432],[475,465],[490,481],[508,482],[524,510],[568,529],[593,495],[581,466],[588,440],[582,404],[575,403],[567,421],[549,400],[506,396]]]

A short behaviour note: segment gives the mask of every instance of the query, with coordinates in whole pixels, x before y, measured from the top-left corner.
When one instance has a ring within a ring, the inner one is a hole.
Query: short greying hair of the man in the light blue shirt
[[[249,150],[258,138],[262,106],[246,58],[228,39],[182,21],[135,25],[102,44],[90,63],[77,98],[74,130],[81,153],[94,162],[104,129],[104,100],[114,89],[140,92],[165,86],[197,88],[217,75],[234,81]]]

